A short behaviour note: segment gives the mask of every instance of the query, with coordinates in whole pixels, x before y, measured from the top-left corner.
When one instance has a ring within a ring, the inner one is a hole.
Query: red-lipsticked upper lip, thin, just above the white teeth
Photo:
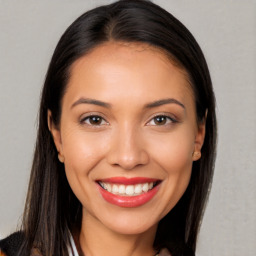
[[[159,179],[147,178],[147,177],[111,177],[102,180],[97,180],[97,182],[113,183],[113,184],[124,184],[124,185],[135,185],[141,183],[150,183],[160,181]]]

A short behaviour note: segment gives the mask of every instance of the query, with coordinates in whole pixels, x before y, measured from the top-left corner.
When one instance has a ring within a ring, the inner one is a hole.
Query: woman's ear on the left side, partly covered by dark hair
[[[58,151],[58,158],[60,162],[64,162],[64,156],[63,156],[63,150],[62,150],[62,142],[61,142],[61,133],[60,129],[56,127],[52,120],[52,112],[48,109],[47,112],[47,122],[48,122],[48,129],[50,133],[52,134],[52,138],[55,144],[55,147]]]

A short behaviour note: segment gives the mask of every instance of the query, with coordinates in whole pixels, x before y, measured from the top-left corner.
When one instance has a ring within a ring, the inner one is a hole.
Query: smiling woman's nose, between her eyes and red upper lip
[[[142,136],[135,129],[119,130],[113,135],[107,161],[124,170],[146,165],[149,155],[145,147]]]

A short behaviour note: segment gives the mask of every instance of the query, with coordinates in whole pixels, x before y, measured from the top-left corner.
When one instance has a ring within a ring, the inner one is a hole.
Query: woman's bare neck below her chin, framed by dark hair
[[[157,225],[140,234],[120,234],[83,214],[78,250],[85,256],[153,256]]]

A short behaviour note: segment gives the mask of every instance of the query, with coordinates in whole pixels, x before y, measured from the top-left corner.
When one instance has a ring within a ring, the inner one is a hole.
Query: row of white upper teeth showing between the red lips
[[[153,182],[136,184],[136,185],[123,185],[99,182],[101,187],[113,194],[120,194],[123,196],[137,196],[146,193],[154,186]]]

